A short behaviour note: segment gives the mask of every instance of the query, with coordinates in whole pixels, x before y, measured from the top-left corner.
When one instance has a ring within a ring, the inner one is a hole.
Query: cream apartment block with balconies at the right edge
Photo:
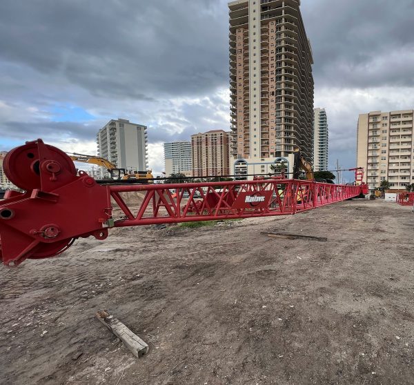
[[[413,110],[359,115],[357,166],[370,189],[388,180],[391,188],[414,183]]]

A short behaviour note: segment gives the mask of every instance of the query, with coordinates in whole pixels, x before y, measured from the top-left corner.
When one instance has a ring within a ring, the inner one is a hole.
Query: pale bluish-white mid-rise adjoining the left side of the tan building
[[[184,174],[192,176],[192,157],[190,141],[164,143],[164,162],[166,176]]]

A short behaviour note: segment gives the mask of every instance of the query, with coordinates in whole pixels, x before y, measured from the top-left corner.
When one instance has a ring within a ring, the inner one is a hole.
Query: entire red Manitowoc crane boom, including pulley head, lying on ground
[[[59,255],[79,237],[106,239],[114,227],[292,215],[368,192],[366,184],[272,177],[102,186],[41,139],[10,150],[3,168],[24,191],[8,191],[0,202],[0,259],[7,266]],[[141,192],[138,207],[128,207],[121,192]]]

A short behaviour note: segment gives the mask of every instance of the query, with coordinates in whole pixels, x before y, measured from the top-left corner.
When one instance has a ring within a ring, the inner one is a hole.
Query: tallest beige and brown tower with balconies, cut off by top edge
[[[232,173],[270,172],[295,145],[313,161],[313,58],[299,6],[228,3]]]

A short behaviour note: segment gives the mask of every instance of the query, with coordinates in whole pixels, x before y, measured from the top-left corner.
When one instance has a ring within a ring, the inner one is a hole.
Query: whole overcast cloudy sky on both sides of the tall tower
[[[355,166],[359,113],[414,108],[414,0],[302,0],[329,167]],[[0,150],[43,138],[96,153],[118,117],[164,141],[229,130],[222,0],[1,0]]]

